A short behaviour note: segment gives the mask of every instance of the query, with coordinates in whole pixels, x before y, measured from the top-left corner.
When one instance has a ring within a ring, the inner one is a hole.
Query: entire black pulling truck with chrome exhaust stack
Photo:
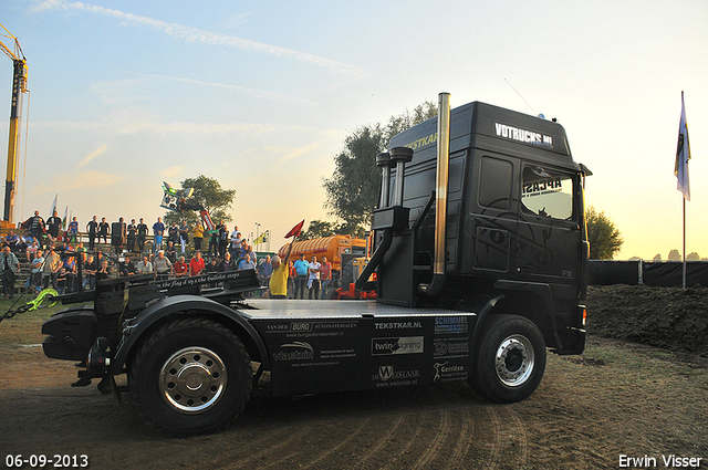
[[[212,432],[252,387],[273,396],[468,380],[483,397],[529,397],[546,348],[585,344],[583,186],[563,127],[483,103],[394,137],[373,255],[357,281],[375,301],[246,299],[254,271],[103,280],[92,301],[42,327],[46,356],[79,362],[171,436]],[[263,380],[263,373],[270,380]],[[127,386],[115,377],[127,375]]]

